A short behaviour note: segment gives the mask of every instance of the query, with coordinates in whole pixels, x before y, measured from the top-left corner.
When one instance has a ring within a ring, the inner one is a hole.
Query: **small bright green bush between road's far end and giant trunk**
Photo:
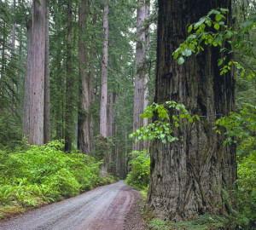
[[[133,187],[143,188],[148,187],[150,173],[150,158],[146,150],[133,151],[129,153],[131,160],[129,161],[129,174],[125,182]]]

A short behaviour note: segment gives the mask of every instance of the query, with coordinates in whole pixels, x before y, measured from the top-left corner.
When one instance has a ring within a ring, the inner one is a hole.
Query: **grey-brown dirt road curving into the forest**
[[[1,221],[0,230],[140,230],[138,200],[137,191],[119,181]]]

